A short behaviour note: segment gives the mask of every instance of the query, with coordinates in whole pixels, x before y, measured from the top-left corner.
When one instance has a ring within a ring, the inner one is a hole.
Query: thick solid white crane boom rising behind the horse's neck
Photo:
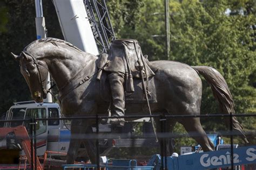
[[[83,0],[53,0],[64,39],[87,53],[99,54]]]

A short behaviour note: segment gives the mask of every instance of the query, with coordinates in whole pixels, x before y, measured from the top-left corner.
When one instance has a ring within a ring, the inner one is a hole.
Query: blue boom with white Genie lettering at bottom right
[[[176,155],[162,158],[153,155],[147,166],[158,170],[163,167],[171,170],[186,169],[254,169],[256,164],[256,146],[225,148],[218,151],[200,152],[194,154]],[[233,156],[231,155],[233,153]],[[254,168],[253,168],[254,167]],[[232,169],[232,168],[231,168]]]

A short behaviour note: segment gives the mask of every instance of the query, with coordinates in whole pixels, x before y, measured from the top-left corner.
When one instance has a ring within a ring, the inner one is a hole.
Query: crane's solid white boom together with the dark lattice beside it
[[[116,39],[105,0],[53,0],[64,39],[85,52],[108,52]]]

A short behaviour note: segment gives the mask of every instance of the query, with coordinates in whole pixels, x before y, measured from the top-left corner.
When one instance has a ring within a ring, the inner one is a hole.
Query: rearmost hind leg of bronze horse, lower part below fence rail
[[[201,126],[199,117],[193,117],[191,119],[183,119],[179,121],[183,124],[184,128],[194,138],[204,151],[213,151],[214,145],[211,140],[207,137],[204,129]]]

